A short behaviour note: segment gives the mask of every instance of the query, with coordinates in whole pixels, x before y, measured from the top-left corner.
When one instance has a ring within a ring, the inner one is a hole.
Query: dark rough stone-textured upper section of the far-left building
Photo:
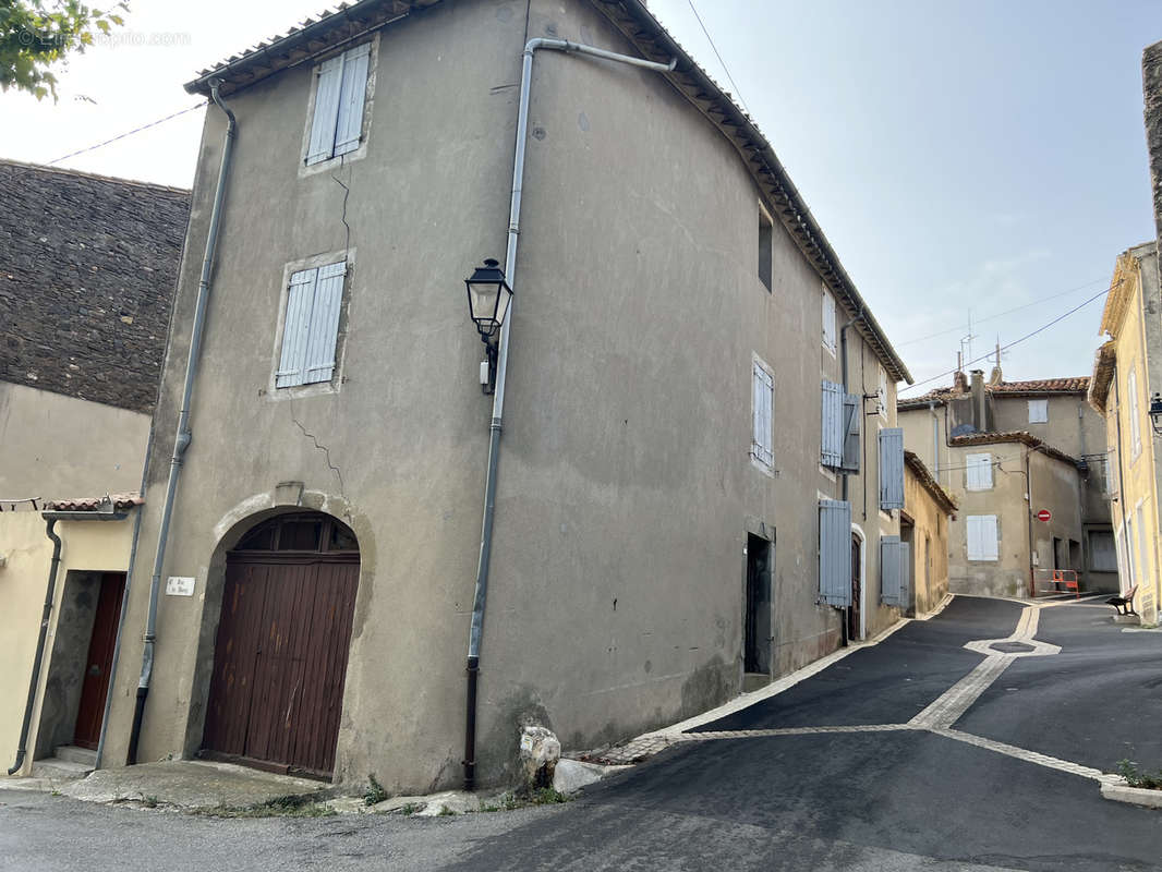
[[[189,192],[0,160],[0,381],[149,412]]]

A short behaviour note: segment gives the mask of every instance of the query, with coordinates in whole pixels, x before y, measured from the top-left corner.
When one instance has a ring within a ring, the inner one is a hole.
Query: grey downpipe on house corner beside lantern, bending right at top
[[[670,72],[677,65],[677,58],[668,64],[618,55],[593,45],[569,42],[568,40],[546,40],[536,37],[525,43],[521,55],[521,101],[516,121],[516,149],[512,157],[512,196],[509,201],[508,246],[504,255],[504,277],[509,287],[516,290],[516,249],[521,236],[521,195],[524,185],[525,144],[529,138],[529,93],[532,87],[532,56],[537,49],[551,49],[590,57],[603,58],[631,66],[640,66],[655,72]],[[472,602],[472,623],[468,629],[468,657],[465,671],[467,673],[465,689],[465,728],[464,728],[464,789],[472,791],[476,785],[476,687],[480,676],[480,641],[485,627],[485,608],[488,602],[488,565],[493,549],[493,520],[496,509],[496,477],[498,473],[501,452],[501,430],[504,417],[504,381],[508,374],[509,334],[512,328],[512,306],[516,294],[509,301],[508,315],[501,326],[496,357],[496,389],[493,394],[493,420],[489,424],[488,473],[485,479],[485,516],[480,531],[480,559],[476,563],[476,585]]]

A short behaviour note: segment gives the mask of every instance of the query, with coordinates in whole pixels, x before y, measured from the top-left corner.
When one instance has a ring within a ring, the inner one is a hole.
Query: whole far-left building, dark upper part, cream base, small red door
[[[95,757],[188,208],[0,160],[5,769]]]

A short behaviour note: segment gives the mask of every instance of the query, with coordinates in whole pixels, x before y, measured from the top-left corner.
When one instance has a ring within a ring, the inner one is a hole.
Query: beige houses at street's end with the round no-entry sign
[[[904,442],[957,506],[953,593],[1031,596],[1117,591],[1105,426],[1088,378],[1005,381],[999,366],[899,401]]]

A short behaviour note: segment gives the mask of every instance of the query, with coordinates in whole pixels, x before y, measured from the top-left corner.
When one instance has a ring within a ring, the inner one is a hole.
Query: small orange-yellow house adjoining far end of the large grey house
[[[904,601],[909,616],[933,612],[948,595],[948,524],[956,503],[914,451],[904,451]]]

